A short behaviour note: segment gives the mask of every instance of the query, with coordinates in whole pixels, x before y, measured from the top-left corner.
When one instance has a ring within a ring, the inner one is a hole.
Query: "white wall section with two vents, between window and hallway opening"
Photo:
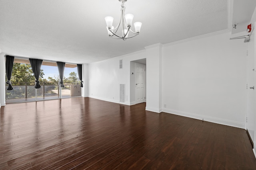
[[[105,61],[88,64],[89,97],[109,102],[120,103],[120,86],[125,84],[126,105],[130,105],[130,61],[144,59],[145,51],[138,51]],[[123,60],[123,68],[119,68],[119,60]]]

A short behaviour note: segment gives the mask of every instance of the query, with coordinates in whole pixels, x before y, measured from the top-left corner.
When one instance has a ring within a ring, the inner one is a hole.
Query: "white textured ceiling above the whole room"
[[[0,49],[21,57],[92,63],[156,43],[228,30],[231,18],[236,18],[230,10],[232,2],[128,0],[126,14],[133,14],[133,22],[141,21],[142,28],[140,35],[123,41],[108,37],[104,20],[112,16],[117,25],[118,0],[0,0]]]

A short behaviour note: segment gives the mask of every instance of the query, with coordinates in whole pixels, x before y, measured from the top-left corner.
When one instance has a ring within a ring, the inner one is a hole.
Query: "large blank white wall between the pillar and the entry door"
[[[164,45],[163,111],[245,128],[246,43],[229,39],[236,36]]]

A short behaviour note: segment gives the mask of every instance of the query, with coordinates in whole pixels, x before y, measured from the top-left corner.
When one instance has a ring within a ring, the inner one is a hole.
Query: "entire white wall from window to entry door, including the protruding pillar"
[[[152,45],[138,53],[88,64],[89,96],[119,103],[119,84],[126,84],[124,104],[132,104],[130,61],[146,58],[146,110],[245,128],[246,43],[230,40],[241,34],[216,33]]]

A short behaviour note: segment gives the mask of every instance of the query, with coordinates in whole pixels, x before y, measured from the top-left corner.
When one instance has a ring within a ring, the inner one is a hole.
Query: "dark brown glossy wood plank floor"
[[[0,108],[0,169],[255,170],[244,129],[92,98]]]

